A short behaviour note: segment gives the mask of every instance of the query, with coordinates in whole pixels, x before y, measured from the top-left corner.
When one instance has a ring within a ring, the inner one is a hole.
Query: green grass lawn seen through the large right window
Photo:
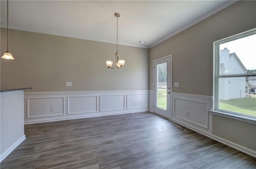
[[[256,97],[220,100],[219,109],[256,115]]]

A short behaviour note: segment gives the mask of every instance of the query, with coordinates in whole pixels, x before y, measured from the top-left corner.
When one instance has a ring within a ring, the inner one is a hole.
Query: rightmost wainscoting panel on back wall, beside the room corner
[[[147,94],[128,94],[127,109],[146,108],[148,104]]]

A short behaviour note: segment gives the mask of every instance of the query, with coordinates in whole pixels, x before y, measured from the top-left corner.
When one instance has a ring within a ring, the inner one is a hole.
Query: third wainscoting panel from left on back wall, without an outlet
[[[101,95],[100,111],[123,110],[125,95]]]

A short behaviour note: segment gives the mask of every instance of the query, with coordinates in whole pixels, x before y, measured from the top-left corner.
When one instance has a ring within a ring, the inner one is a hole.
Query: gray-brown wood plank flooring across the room
[[[256,169],[256,158],[183,129],[149,112],[29,124],[0,168]]]

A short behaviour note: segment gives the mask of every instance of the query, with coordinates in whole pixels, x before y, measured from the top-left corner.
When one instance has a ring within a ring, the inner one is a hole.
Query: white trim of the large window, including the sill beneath
[[[246,36],[250,36],[253,34],[256,34],[256,28],[213,42],[213,98],[214,99],[213,99],[213,110],[211,111],[213,114],[220,115],[223,117],[229,117],[232,119],[237,119],[240,121],[246,121],[250,123],[256,122],[256,117],[254,117],[253,115],[246,115],[243,113],[236,113],[233,111],[226,111],[226,110],[216,108],[218,107],[218,84],[216,84],[218,83],[218,78],[244,76],[244,74],[227,75],[227,76],[225,75],[225,76],[218,76],[218,77],[216,76],[219,74],[219,57],[218,57],[219,51],[220,51],[219,45],[236,40],[236,39],[240,39]],[[246,75],[248,76],[249,74],[246,74]],[[249,76],[256,76],[256,74],[250,74]]]

